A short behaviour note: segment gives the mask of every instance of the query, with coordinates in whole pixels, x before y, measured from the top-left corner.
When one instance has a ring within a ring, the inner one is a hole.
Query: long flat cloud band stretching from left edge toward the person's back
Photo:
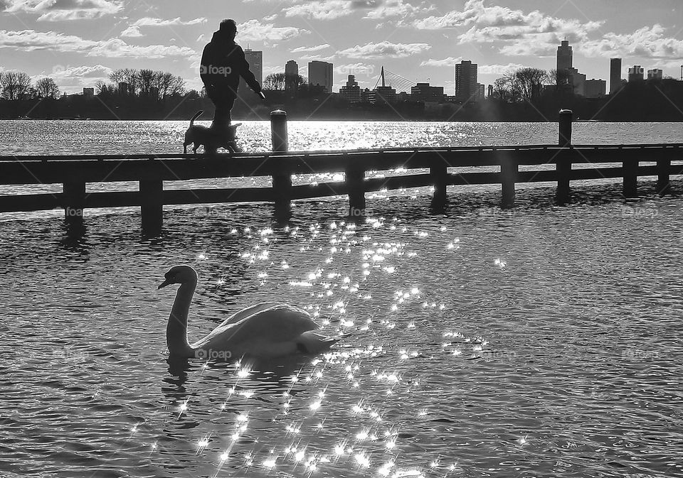
[[[0,30],[0,48],[16,48],[22,51],[48,50],[65,53],[83,53],[85,56],[107,58],[166,58],[191,56],[196,51],[176,45],[128,45],[120,38],[110,40],[85,40],[75,35],[53,31]]]

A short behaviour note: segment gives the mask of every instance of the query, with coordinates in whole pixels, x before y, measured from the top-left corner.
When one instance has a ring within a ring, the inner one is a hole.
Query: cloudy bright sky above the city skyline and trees
[[[263,50],[263,75],[287,60],[334,64],[334,90],[381,67],[453,94],[455,63],[491,84],[521,66],[551,70],[561,40],[588,79],[609,79],[610,58],[681,77],[682,0],[0,0],[0,71],[52,77],[62,91],[107,81],[117,68],[180,75],[201,88],[203,46],[223,18],[236,41]]]

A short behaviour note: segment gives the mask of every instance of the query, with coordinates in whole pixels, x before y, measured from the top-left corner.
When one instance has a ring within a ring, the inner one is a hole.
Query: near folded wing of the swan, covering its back
[[[247,310],[252,310],[252,313],[245,313]],[[309,313],[287,304],[259,304],[241,310],[238,314],[242,314],[241,320],[233,322],[234,316],[228,318],[226,322],[198,342],[198,345],[206,345],[209,342],[216,346],[225,345],[226,342],[231,344],[288,342],[295,340],[308,330],[318,328]]]

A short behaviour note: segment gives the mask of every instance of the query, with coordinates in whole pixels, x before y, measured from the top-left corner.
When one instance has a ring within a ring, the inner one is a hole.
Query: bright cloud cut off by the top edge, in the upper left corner
[[[40,14],[38,21],[65,21],[100,18],[118,13],[123,2],[117,0],[2,0],[9,13]]]

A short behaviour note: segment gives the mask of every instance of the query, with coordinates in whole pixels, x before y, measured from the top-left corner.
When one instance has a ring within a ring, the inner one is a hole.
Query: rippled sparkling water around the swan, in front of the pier
[[[167,208],[157,239],[134,210],[84,236],[6,214],[0,476],[683,476],[683,212],[651,190],[374,197],[360,224],[297,202],[286,227]],[[157,284],[183,263],[191,339],[268,300],[354,335],[270,371],[169,364]]]

